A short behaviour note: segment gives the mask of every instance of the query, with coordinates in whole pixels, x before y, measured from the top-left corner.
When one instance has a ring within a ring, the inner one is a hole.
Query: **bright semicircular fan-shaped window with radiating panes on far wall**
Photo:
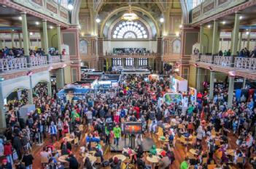
[[[144,25],[138,22],[120,22],[119,25],[115,27],[112,34],[113,38],[148,38],[147,30]]]

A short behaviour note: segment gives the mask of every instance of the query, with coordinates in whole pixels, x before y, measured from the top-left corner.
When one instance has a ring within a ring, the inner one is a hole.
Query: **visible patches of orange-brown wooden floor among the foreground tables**
[[[86,128],[85,128],[85,131]],[[148,136],[148,135],[147,135]],[[228,136],[229,139],[229,149],[236,149],[236,136],[233,136],[233,134],[230,134]],[[155,138],[153,138],[153,141],[156,143],[157,147],[160,147],[160,144],[158,143],[158,141],[156,141]],[[48,139],[44,140],[44,144],[42,146],[38,146],[38,145],[33,145],[33,149],[32,149],[32,154],[34,156],[34,164],[33,164],[33,168],[39,169],[42,168],[41,163],[40,163],[40,154],[39,152],[42,151],[42,147],[50,144],[50,137],[48,136]],[[80,146],[85,144],[85,132],[82,134],[81,137],[81,142],[80,142]],[[57,149],[60,149],[61,146],[61,142],[60,141],[55,141],[54,142],[54,146]],[[189,147],[187,148],[189,149]],[[180,144],[179,142],[177,142],[176,146],[174,147],[174,154],[175,154],[175,161],[174,164],[172,164],[170,166],[170,169],[179,169],[179,165],[182,162],[182,160],[185,159],[186,155],[187,155],[187,149]],[[112,153],[109,151],[109,148],[106,149],[105,147],[105,152],[104,152],[104,160],[108,160],[110,157],[113,157],[113,155],[117,154],[117,153]],[[81,164],[81,166],[84,164],[84,162],[82,162],[82,157],[79,156],[79,147],[72,147],[72,152],[75,154],[75,156],[77,157],[77,160],[79,161],[79,163]],[[237,168],[236,166],[232,166],[232,168]],[[252,168],[251,165],[247,164],[245,165],[245,168]]]

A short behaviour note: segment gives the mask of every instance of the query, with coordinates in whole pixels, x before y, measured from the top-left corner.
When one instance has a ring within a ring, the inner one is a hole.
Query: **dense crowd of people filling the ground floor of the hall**
[[[13,107],[9,109],[7,131],[0,136],[0,153],[5,156],[0,168],[32,168],[34,154],[31,154],[31,147],[45,139],[53,143],[60,141],[61,147],[58,151],[54,144],[43,146],[40,157],[44,168],[64,168],[65,162],[59,160],[63,155],[66,155],[67,168],[81,167],[73,148],[73,144],[81,141],[84,130],[81,130],[81,125],[87,126],[85,144],[79,148],[80,154],[85,157],[83,168],[95,168],[98,163],[91,162],[91,151],[95,151],[93,156],[100,159],[101,165],[120,168],[120,159],[104,156],[104,145],[120,147],[123,123],[133,121],[141,122],[143,133],[136,134],[138,146],[134,149],[124,147],[123,154],[131,162],[136,162],[138,168],[151,167],[145,160],[148,155],[159,157],[155,168],[165,169],[173,165],[179,143],[194,149],[194,153],[187,155],[180,163],[182,169],[190,166],[207,168],[207,165],[229,168],[236,164],[240,168],[245,162],[251,162],[255,167],[256,108],[253,100],[247,98],[244,102],[237,102],[234,98],[233,107],[228,107],[227,88],[217,87],[214,88],[214,99],[209,99],[205,88],[202,93],[198,92],[197,102],[189,102],[186,110],[182,109],[181,102],[159,106],[158,98],[169,90],[169,86],[168,77],[147,82],[140,75],[125,75],[115,90],[88,94],[77,102],[63,102],[47,96],[47,86],[39,85],[34,90],[36,110],[28,113],[25,124],[17,120],[18,113]],[[153,139],[158,136],[160,128],[163,135],[159,136],[159,140],[168,141],[160,146],[154,142],[149,154],[146,154],[141,144],[144,137]],[[71,144],[66,136],[78,142]],[[192,138],[192,141],[182,141],[183,137]],[[236,147],[230,141],[236,142]],[[190,144],[187,145],[188,142]],[[162,149],[161,152],[157,148]],[[230,149],[233,150],[230,152]]]

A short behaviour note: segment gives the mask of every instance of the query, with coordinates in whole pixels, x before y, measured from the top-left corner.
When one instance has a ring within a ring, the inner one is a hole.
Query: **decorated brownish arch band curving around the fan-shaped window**
[[[131,7],[131,10],[133,11],[138,11],[138,12],[142,12],[144,13],[145,15],[147,15],[147,17],[150,18],[150,20],[152,20],[152,22],[154,23],[155,25],[155,28],[156,28],[156,33],[157,33],[157,36],[160,37],[160,28],[158,26],[158,22],[155,20],[154,17],[152,17],[152,15],[150,14],[150,12],[147,12],[146,10],[144,9],[141,9],[139,7]],[[120,7],[118,9],[115,9],[114,11],[112,11],[102,22],[101,24],[101,32],[100,32],[100,36],[103,37],[103,32],[104,32],[104,26],[106,25],[106,22],[111,18],[113,17],[114,15],[116,15],[118,12],[122,12],[122,11],[127,11],[127,7]]]

